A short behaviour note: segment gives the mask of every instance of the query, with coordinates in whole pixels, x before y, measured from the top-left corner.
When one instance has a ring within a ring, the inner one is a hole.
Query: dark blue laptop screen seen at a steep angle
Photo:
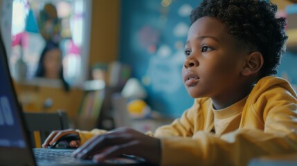
[[[1,37],[1,36],[0,36]],[[26,147],[6,53],[0,44],[0,147]]]

